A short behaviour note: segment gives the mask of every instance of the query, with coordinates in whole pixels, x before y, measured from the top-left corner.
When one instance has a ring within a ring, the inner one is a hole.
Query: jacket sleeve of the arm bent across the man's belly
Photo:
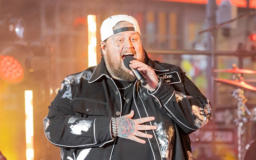
[[[67,82],[62,83],[48,109],[43,120],[45,136],[56,146],[93,147],[113,141],[111,117],[89,118],[71,109],[71,87]]]

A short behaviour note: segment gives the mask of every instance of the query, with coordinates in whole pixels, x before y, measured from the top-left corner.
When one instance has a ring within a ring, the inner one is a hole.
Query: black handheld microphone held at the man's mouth
[[[137,80],[140,82],[140,84],[142,84],[143,86],[147,85],[147,81],[145,79],[145,77],[142,75],[142,73],[136,69],[131,68],[130,65],[130,61],[135,60],[135,58],[133,58],[133,56],[126,56],[124,58],[124,65],[127,69],[131,70],[133,75],[137,78]]]

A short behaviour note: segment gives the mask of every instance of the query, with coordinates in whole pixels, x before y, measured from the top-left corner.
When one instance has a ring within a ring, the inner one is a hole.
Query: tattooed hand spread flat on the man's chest
[[[149,121],[153,121],[155,117],[144,117],[139,119],[131,119],[134,116],[134,111],[130,114],[116,118],[116,125],[118,129],[118,137],[133,140],[138,143],[146,143],[138,137],[153,138],[151,134],[146,134],[141,131],[155,130],[157,126],[142,125]],[[138,136],[138,137],[137,137]]]

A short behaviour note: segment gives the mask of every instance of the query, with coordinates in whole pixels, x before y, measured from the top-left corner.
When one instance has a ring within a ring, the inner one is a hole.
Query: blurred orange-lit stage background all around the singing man
[[[194,160],[255,156],[256,0],[0,0],[0,151],[57,160],[43,118],[62,80],[100,61],[100,25],[138,20],[153,60],[179,65],[211,101]]]

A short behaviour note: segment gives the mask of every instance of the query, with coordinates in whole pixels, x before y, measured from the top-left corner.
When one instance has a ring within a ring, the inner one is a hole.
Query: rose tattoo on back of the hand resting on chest
[[[134,131],[134,122],[132,119],[126,117],[120,117],[116,119],[118,126],[118,136],[121,138],[126,138],[130,136]]]

